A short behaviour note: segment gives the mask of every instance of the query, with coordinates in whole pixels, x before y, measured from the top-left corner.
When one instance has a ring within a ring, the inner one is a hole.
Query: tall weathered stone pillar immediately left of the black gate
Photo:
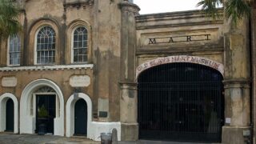
[[[122,141],[138,139],[137,83],[135,81],[136,22],[139,8],[124,0],[119,3],[121,22],[120,120]]]

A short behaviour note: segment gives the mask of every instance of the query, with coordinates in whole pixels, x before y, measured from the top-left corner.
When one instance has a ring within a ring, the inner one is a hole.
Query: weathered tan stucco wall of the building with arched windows
[[[50,25],[56,32],[56,65],[70,65],[72,31],[85,26],[88,31],[88,62],[91,85],[84,88],[93,101],[94,120],[119,122],[119,69],[121,44],[121,10],[118,1],[99,0],[19,0],[22,7],[20,22],[23,26],[21,66],[34,66],[35,35],[41,26]],[[7,40],[1,43],[0,66],[7,66]],[[85,63],[85,64],[86,64]],[[23,85],[38,78],[49,78],[65,91],[65,100],[72,93],[66,78],[76,70],[3,72],[1,78],[11,74],[18,78],[16,88],[1,88],[1,93],[12,92],[18,97]],[[79,74],[87,74],[80,72]],[[30,74],[25,78],[24,74]],[[48,75],[49,74],[49,75]],[[54,74],[62,77],[54,77]],[[23,75],[23,78],[22,78]],[[21,82],[20,82],[21,81]],[[63,83],[62,83],[63,82]],[[20,86],[22,85],[22,86]],[[94,94],[92,93],[94,91]],[[64,93],[64,92],[63,92]],[[107,112],[106,118],[98,118],[99,111]]]

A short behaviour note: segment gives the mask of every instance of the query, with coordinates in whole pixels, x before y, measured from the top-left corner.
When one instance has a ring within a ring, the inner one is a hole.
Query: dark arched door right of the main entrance
[[[74,104],[74,135],[87,134],[87,104],[82,98]]]

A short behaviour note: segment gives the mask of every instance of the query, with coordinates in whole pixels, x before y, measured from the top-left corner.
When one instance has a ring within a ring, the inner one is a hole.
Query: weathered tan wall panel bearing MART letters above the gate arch
[[[223,63],[222,20],[212,22],[192,10],[140,15],[136,22],[137,66],[171,55],[194,55]]]

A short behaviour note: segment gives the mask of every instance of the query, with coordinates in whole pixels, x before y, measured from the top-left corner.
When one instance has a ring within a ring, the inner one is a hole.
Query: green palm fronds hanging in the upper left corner
[[[0,39],[13,36],[22,30],[18,15],[19,9],[11,0],[0,0]]]

